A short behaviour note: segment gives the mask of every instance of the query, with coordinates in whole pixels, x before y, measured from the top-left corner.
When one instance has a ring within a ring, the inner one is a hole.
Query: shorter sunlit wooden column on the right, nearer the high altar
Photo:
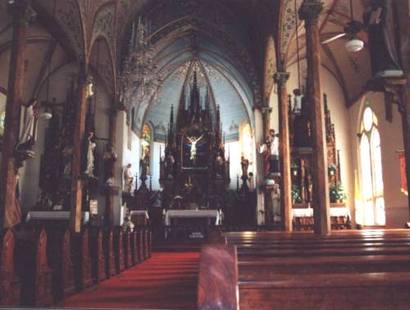
[[[276,72],[274,75],[278,85],[279,104],[279,160],[280,160],[280,205],[282,228],[292,231],[292,180],[290,175],[290,145],[289,145],[289,100],[286,82],[288,72]]]

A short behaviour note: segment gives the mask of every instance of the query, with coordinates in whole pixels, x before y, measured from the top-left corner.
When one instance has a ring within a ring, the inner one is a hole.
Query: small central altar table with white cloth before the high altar
[[[221,210],[164,210],[165,239],[169,234],[203,239],[212,227],[221,226]]]

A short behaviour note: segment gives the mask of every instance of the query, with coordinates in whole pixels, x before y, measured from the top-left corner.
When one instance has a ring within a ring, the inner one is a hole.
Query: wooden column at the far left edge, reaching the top
[[[10,66],[6,102],[6,119],[2,145],[0,184],[0,223],[11,227],[21,220],[20,206],[16,203],[17,162],[15,147],[20,129],[20,109],[24,85],[24,51],[26,43],[27,11],[29,2],[16,0],[9,4],[13,15],[13,40],[10,50]]]

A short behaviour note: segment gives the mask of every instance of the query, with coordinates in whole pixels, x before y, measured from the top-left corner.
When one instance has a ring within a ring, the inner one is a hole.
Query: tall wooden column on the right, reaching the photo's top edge
[[[327,150],[324,108],[320,87],[319,14],[323,4],[319,0],[304,0],[299,17],[305,21],[307,59],[307,98],[312,107],[313,136],[313,204],[316,234],[330,233],[330,204],[327,176]]]

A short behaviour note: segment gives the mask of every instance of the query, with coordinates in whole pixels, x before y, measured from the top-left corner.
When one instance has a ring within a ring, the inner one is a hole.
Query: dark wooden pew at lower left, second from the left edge
[[[16,232],[16,237],[16,271],[22,281],[21,305],[49,306],[53,303],[53,293],[47,234],[44,229],[22,229]]]

